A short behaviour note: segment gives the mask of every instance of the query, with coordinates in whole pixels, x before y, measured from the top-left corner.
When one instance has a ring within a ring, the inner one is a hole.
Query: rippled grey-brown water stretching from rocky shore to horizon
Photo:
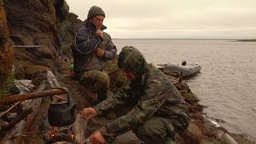
[[[186,60],[202,66],[185,80],[207,106],[207,118],[256,140],[256,42],[225,40],[114,39],[118,53],[134,46],[154,64]]]

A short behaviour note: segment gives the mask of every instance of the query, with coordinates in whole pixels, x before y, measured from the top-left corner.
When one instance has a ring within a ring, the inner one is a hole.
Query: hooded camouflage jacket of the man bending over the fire
[[[101,132],[104,138],[113,138],[134,130],[153,115],[163,118],[184,118],[186,122],[190,122],[186,102],[166,75],[155,66],[147,64],[142,54],[138,50],[134,52],[133,47],[129,50],[123,48],[123,50],[126,50],[131,58],[122,58],[121,52],[118,66],[126,70],[132,69],[137,80],[131,82],[129,88],[99,103],[94,109],[97,110],[98,115],[101,115],[104,110],[125,106],[130,102],[136,104],[126,115],[102,127]],[[124,61],[121,62],[124,63],[123,66],[120,66],[122,65],[119,63],[120,59]]]

